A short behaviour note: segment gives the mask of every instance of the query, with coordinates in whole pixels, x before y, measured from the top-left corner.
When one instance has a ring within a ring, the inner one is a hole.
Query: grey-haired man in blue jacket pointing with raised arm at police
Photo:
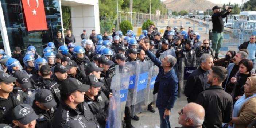
[[[171,128],[169,122],[169,115],[174,102],[178,97],[178,78],[175,70],[172,69],[176,63],[176,58],[167,55],[161,61],[153,55],[145,46],[144,40],[141,40],[140,45],[146,52],[148,57],[156,66],[159,67],[159,73],[155,80],[153,94],[158,93],[156,99],[156,107],[160,115],[160,127]]]

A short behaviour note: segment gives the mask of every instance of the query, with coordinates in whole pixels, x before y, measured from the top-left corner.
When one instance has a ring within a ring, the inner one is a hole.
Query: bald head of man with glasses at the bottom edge
[[[176,128],[202,128],[205,119],[205,109],[196,103],[189,103],[179,111],[179,124]]]

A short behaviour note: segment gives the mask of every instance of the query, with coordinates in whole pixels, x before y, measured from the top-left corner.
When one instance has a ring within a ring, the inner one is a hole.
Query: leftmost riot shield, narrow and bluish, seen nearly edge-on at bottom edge
[[[106,121],[106,128],[121,128],[122,118],[120,110],[120,76],[116,74],[112,77],[111,89],[113,96],[109,100],[108,120]]]

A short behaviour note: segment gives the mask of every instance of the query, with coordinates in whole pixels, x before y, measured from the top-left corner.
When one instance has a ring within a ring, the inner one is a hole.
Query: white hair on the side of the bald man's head
[[[203,121],[205,120],[204,116],[202,118],[200,118],[193,111],[187,111],[186,116],[187,116],[187,118],[190,118],[193,121],[194,127],[201,126],[203,124]]]

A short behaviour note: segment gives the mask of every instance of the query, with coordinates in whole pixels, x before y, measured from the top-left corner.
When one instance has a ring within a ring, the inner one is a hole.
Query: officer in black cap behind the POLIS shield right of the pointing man
[[[192,49],[193,41],[187,40],[185,49],[180,51],[180,55],[178,58],[185,58],[185,66],[186,67],[196,67],[197,66],[197,57],[195,55],[195,50]]]

